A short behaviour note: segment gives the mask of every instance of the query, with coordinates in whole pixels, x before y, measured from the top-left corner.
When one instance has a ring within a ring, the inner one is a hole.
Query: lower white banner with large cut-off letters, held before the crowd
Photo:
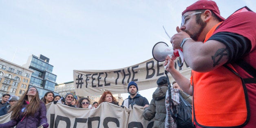
[[[96,109],[72,108],[63,104],[47,104],[49,128],[152,128],[154,119],[146,121],[143,107],[133,108],[103,102]],[[10,114],[0,117],[0,124],[8,122]]]

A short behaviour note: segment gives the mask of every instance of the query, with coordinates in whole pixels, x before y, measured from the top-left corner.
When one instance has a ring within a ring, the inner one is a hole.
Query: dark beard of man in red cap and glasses
[[[184,30],[184,31],[186,33],[188,33],[188,35],[190,35],[190,38],[192,38],[195,41],[198,41],[200,33],[202,33],[203,29],[206,26],[206,22],[203,22],[203,20],[201,18],[199,18],[199,19],[196,18],[196,24],[200,25],[200,29],[196,33],[192,34],[192,33],[188,32],[187,30]]]

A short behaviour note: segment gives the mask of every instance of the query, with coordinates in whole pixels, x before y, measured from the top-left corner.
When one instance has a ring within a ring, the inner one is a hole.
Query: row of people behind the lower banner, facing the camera
[[[139,106],[148,105],[148,100],[145,97],[137,94],[137,90],[137,84],[135,82],[130,82],[128,86],[128,92],[130,93],[130,96],[128,99],[135,100],[133,100],[133,102],[129,102],[127,107],[130,104],[137,104]],[[143,100],[140,101],[138,97],[141,97]],[[49,91],[45,93],[42,99],[39,99],[37,88],[31,87],[26,90],[20,99],[18,99],[16,96],[11,97],[9,94],[2,95],[2,100],[0,101],[0,116],[6,115],[10,112],[12,113],[11,121],[0,124],[0,128],[11,128],[13,126],[16,126],[17,128],[37,128],[39,126],[47,128],[49,124],[47,123],[46,118],[46,104],[51,102],[53,102],[53,104],[57,104],[57,102],[59,102],[73,108],[89,109],[96,109],[103,102],[109,102],[119,106],[119,102],[117,102],[117,99],[112,95],[110,91],[104,91],[99,99],[99,102],[93,102],[93,104],[91,104],[88,97],[80,97],[77,102],[77,99],[72,93],[68,93],[65,95],[65,97],[61,97],[60,95],[54,95],[53,92]]]

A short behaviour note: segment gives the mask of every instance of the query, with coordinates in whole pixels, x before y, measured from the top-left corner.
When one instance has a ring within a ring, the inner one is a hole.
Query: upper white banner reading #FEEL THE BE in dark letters
[[[139,90],[157,87],[157,79],[164,74],[164,62],[153,58],[140,64],[115,70],[74,70],[75,94],[79,96],[102,95],[102,90],[113,94],[127,93],[128,83],[134,81]],[[190,78],[191,68],[185,63],[182,68],[175,68],[185,77]],[[174,79],[168,74],[170,82]]]

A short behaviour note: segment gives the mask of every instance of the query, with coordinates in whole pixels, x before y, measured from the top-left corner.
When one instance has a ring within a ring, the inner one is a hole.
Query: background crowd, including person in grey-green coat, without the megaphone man
[[[168,86],[167,77],[160,77],[157,80],[157,85],[158,87],[152,95],[153,99],[149,104],[145,97],[138,94],[139,89],[137,84],[133,81],[130,82],[127,88],[130,95],[123,101],[121,107],[124,108],[125,106],[129,108],[135,104],[142,106],[144,108],[144,119],[150,121],[155,117],[154,127],[164,128],[166,119],[165,97]],[[177,86],[178,85],[175,85],[173,87],[177,88]],[[53,104],[57,104],[57,102],[62,103],[73,108],[89,109],[96,109],[103,102],[109,102],[119,106],[119,102],[117,102],[117,99],[113,97],[110,91],[104,91],[99,101],[93,102],[93,104],[91,104],[88,97],[80,97],[77,102],[77,99],[72,93],[68,93],[65,97],[61,97],[60,95],[54,95],[51,91],[45,93],[44,97],[39,99],[38,90],[35,87],[26,90],[20,99],[16,96],[10,96],[11,95],[9,94],[4,94],[2,95],[2,101],[0,101],[0,104],[2,104],[2,108],[0,108],[0,116],[12,111],[11,121],[0,124],[1,128],[11,128],[13,126],[35,128],[43,126],[44,128],[47,128],[49,124],[46,119],[46,104],[51,102],[53,102]]]

